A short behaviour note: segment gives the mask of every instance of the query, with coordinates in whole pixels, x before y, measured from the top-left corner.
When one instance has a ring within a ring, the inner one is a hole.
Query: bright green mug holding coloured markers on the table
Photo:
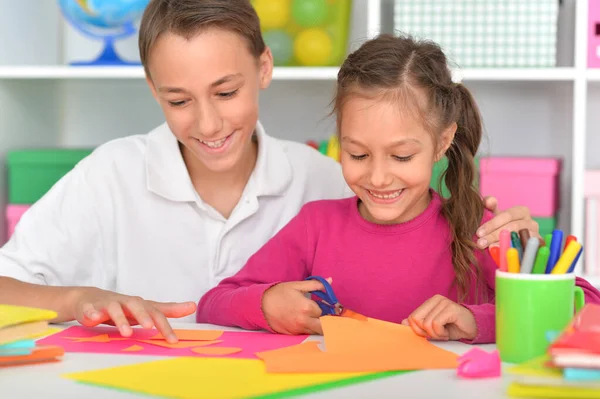
[[[562,331],[583,307],[575,274],[496,271],[496,345],[504,362],[522,363],[546,353],[548,331]]]

